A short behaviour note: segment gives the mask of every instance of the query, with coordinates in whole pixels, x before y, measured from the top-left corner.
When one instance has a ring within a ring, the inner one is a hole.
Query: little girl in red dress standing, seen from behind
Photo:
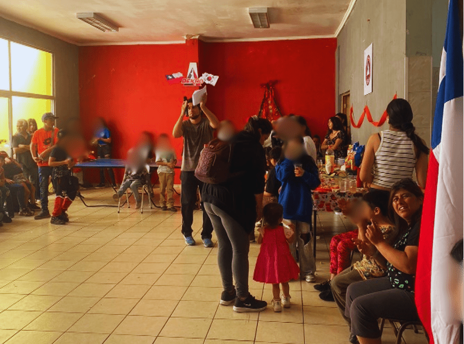
[[[281,312],[282,306],[290,308],[289,281],[300,277],[300,269],[289,247],[295,233],[281,225],[282,213],[283,208],[278,203],[269,203],[263,208],[264,224],[258,237],[258,243],[262,242],[261,250],[253,275],[257,282],[272,284],[274,312]],[[282,284],[281,298],[279,284]]]

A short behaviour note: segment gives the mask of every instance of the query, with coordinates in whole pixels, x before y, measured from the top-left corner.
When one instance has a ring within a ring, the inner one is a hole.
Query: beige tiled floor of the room
[[[111,203],[110,189],[83,192]],[[52,198],[50,198],[51,201]],[[50,202],[51,207],[51,202]],[[334,303],[312,284],[292,282],[292,308],[238,314],[220,306],[217,247],[186,247],[181,214],[72,204],[70,223],[16,216],[0,228],[0,342],[34,344],[347,343]],[[319,215],[318,280],[329,276],[328,243],[347,220]],[[201,214],[195,214],[200,241]],[[214,240],[215,241],[215,240]],[[250,248],[250,274],[259,245]],[[253,295],[272,299],[251,281]],[[408,331],[407,343],[424,343]],[[384,343],[393,343],[385,329]]]

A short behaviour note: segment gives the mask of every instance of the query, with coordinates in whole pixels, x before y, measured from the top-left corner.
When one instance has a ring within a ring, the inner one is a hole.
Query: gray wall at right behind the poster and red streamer
[[[369,21],[368,21],[369,19]],[[357,120],[367,104],[378,120],[393,95],[405,97],[405,0],[357,0],[338,36],[339,66],[337,93],[350,91]],[[364,50],[373,43],[373,92],[364,95]],[[338,99],[340,103],[340,99]],[[338,106],[340,109],[340,105]],[[353,142],[365,144],[369,136],[383,128],[365,119],[359,129],[351,129]]]

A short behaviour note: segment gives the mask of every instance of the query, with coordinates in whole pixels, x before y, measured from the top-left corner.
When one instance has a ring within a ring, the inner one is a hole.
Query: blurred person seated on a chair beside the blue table
[[[127,152],[127,164],[124,170],[124,178],[119,191],[113,195],[113,199],[118,201],[128,188],[131,188],[136,201],[136,209],[140,209],[142,198],[139,194],[139,187],[146,183],[147,165],[146,157],[141,158],[138,149],[130,149]]]

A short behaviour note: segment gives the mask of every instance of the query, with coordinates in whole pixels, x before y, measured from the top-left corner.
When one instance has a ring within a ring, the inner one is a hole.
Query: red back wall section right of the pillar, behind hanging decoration
[[[306,118],[313,134],[325,135],[335,113],[337,39],[261,42],[199,42],[201,72],[219,75],[208,86],[210,109],[242,128],[260,108],[268,81],[283,115]]]

